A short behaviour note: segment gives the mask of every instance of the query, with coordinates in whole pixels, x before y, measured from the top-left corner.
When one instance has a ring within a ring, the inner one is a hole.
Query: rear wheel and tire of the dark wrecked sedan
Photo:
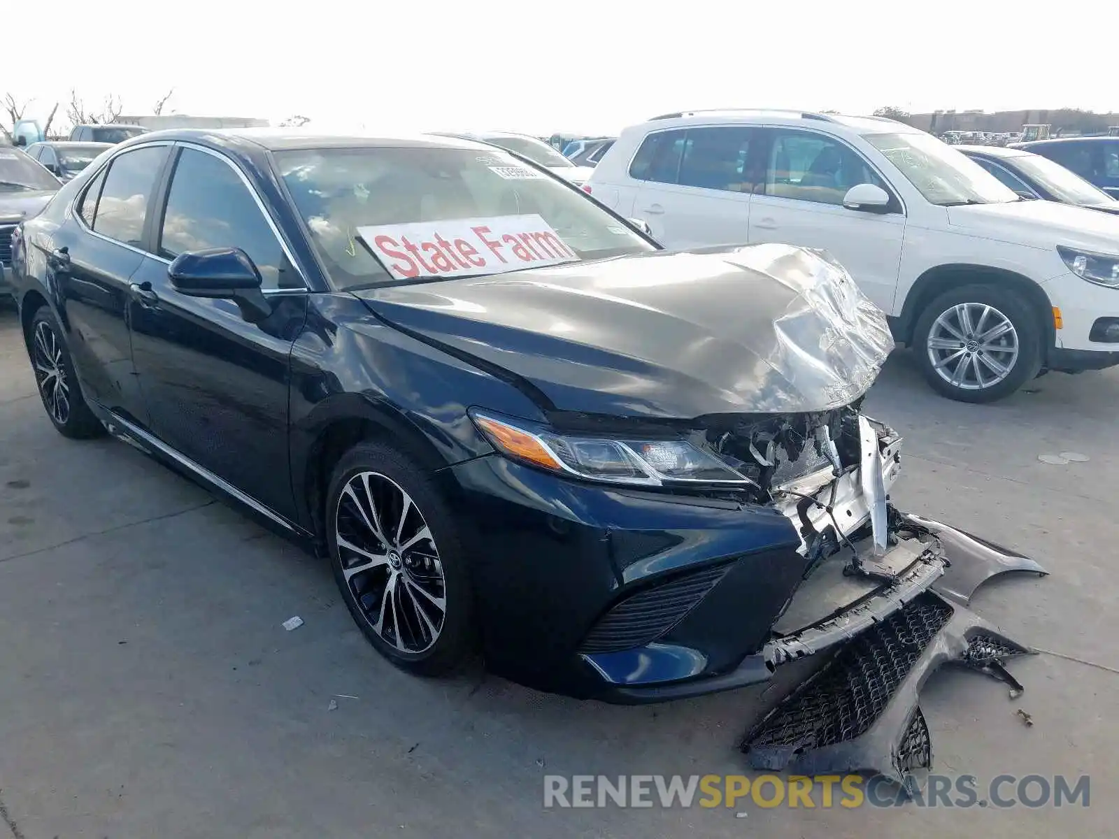
[[[105,434],[105,426],[93,415],[82,395],[82,383],[74,373],[74,361],[63,330],[45,305],[31,317],[27,329],[27,352],[43,407],[58,433],[73,440]]]

